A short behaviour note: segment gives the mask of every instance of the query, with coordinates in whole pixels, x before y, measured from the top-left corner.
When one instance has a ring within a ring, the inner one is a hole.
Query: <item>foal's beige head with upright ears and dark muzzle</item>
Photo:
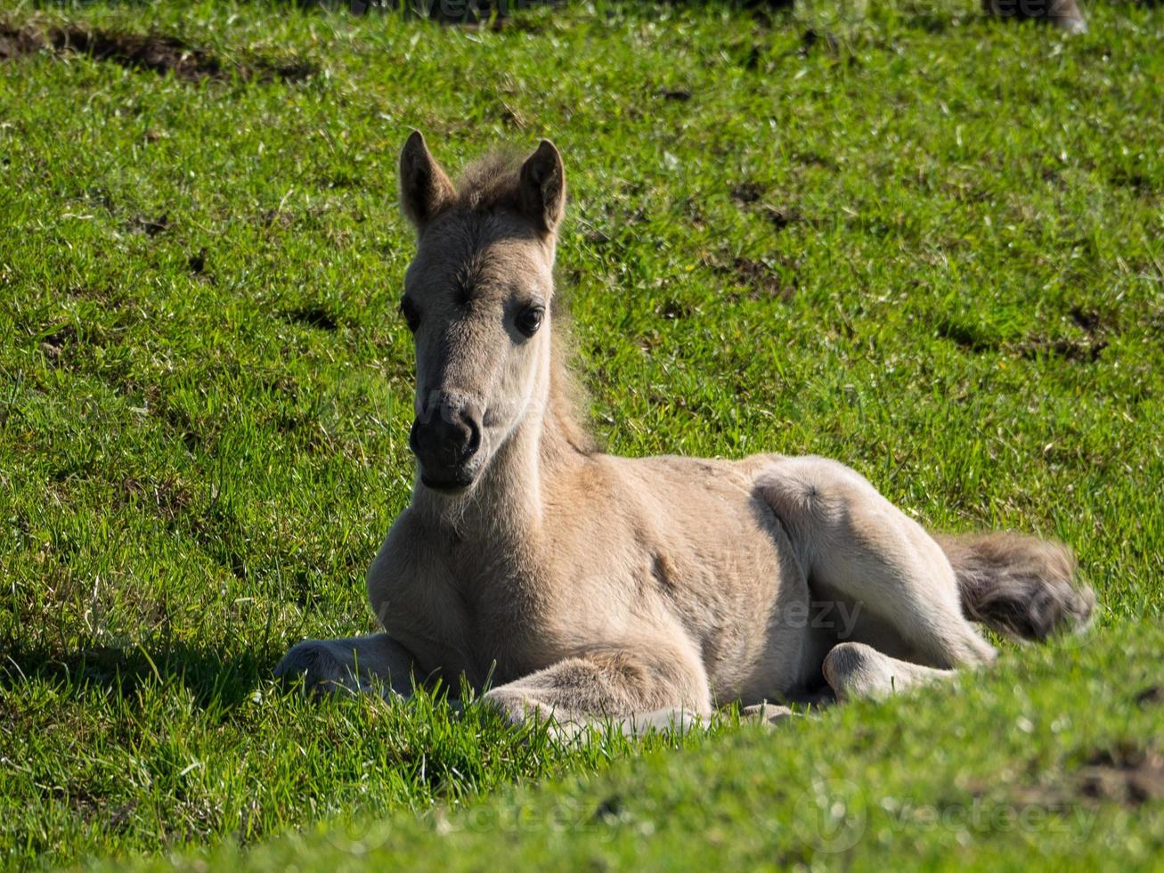
[[[418,239],[400,301],[417,347],[410,445],[431,489],[471,485],[546,397],[565,198],[547,140],[524,163],[484,158],[456,187],[418,132],[400,152],[400,204]]]

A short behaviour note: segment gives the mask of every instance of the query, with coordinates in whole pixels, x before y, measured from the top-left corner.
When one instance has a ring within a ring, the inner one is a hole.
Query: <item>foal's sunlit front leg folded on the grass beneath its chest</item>
[[[589,650],[498,686],[483,700],[513,724],[552,718],[553,732],[567,738],[608,721],[634,734],[691,726],[711,715],[703,665],[677,640]]]

